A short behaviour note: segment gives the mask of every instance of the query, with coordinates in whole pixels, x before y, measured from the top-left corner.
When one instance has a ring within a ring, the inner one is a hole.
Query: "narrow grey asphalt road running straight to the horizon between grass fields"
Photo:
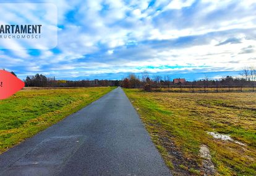
[[[121,88],[0,156],[0,175],[171,175]]]

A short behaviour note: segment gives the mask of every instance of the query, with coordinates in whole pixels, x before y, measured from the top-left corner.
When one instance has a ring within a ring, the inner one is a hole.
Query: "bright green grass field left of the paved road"
[[[0,100],[0,153],[113,89],[25,89],[11,98]]]

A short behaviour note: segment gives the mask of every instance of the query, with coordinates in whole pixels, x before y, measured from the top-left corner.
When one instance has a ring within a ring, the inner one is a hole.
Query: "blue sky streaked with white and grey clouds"
[[[218,79],[256,65],[255,0],[11,2],[58,7],[56,47],[0,49],[0,68],[22,79],[122,79],[143,71]]]

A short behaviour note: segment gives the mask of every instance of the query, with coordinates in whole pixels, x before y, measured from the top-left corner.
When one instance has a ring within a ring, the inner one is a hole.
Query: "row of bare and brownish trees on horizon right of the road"
[[[126,78],[122,79],[121,86],[125,88],[140,88],[150,91],[151,88],[158,88],[161,86],[256,86],[256,67],[250,66],[244,68],[240,73],[241,76],[233,77],[226,76],[221,79],[208,79],[207,73],[205,78],[196,81],[186,81],[174,83],[174,79],[170,76],[149,76],[147,71],[143,71],[142,74],[129,73]]]

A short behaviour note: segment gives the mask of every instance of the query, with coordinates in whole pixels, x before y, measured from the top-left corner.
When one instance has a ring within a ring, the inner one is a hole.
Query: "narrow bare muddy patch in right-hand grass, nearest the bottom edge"
[[[203,175],[215,175],[216,170],[213,162],[211,161],[211,153],[207,145],[201,145],[200,156],[203,158],[202,170]]]

